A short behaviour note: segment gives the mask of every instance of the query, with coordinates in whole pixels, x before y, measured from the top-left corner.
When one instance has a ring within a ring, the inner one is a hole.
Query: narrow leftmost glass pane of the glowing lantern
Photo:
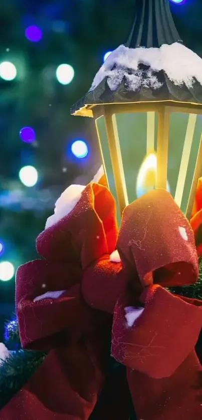
[[[112,169],[112,163],[109,153],[109,145],[108,145],[108,138],[107,138],[107,130],[106,130],[106,124],[105,124],[105,118],[103,116],[99,117],[95,121],[97,134],[99,138],[100,143],[100,149],[101,149],[101,155],[103,159],[103,165],[106,171],[107,180],[109,184],[109,189],[114,196],[116,203],[117,203],[117,220],[120,221],[120,212],[119,212],[119,206],[118,206],[118,199],[116,194],[116,187],[115,187],[115,180],[114,180],[114,174]]]

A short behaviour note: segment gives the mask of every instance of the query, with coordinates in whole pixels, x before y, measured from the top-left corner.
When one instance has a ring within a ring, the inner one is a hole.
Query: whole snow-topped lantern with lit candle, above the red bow
[[[189,218],[202,175],[202,60],[180,40],[168,0],[137,1],[135,12],[127,43],[71,113],[95,119],[120,215],[148,190],[164,188]]]

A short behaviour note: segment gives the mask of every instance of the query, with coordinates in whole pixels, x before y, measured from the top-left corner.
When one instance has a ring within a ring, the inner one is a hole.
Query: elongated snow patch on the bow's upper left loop
[[[85,188],[85,185],[70,185],[66,188],[56,201],[54,214],[48,217],[45,229],[53,226],[74,209]]]

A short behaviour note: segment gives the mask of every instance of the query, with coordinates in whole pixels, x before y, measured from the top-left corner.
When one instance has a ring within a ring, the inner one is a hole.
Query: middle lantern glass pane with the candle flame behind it
[[[115,114],[115,118],[128,202],[131,203],[155,188],[158,114],[120,113]],[[151,159],[146,159],[150,155]]]

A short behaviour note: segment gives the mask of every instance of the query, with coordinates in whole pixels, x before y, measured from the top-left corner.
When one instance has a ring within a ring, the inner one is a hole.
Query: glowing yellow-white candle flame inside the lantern
[[[137,198],[146,194],[155,188],[156,185],[156,172],[157,172],[157,156],[155,152],[149,153],[143,160],[136,182],[136,195]],[[169,185],[167,182],[167,191]]]

